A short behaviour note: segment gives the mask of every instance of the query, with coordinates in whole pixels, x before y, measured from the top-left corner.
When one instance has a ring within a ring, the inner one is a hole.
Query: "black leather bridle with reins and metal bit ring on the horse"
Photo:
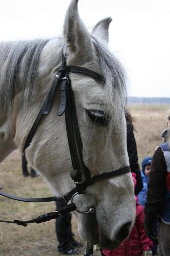
[[[50,202],[50,201],[61,201],[62,207],[58,210],[48,212],[47,214],[41,215],[35,219],[29,220],[29,221],[20,221],[20,220],[14,220],[14,221],[5,221],[0,220],[0,222],[7,222],[7,223],[16,223],[18,225],[27,226],[29,223],[41,223],[45,221],[49,221],[51,219],[56,219],[59,216],[70,212],[77,210],[83,214],[94,214],[95,208],[94,206],[89,208],[88,211],[80,211],[77,209],[76,205],[73,202],[74,197],[77,194],[84,194],[87,193],[86,187],[94,184],[97,181],[101,181],[104,179],[108,179],[111,177],[119,176],[126,174],[130,172],[130,166],[126,166],[117,170],[111,170],[111,172],[103,173],[100,175],[96,175],[91,177],[90,170],[85,165],[83,161],[83,145],[82,140],[80,136],[79,131],[79,124],[76,114],[76,106],[75,106],[75,99],[74,99],[74,93],[71,89],[71,80],[69,78],[69,73],[79,73],[91,76],[92,78],[99,80],[101,82],[105,82],[105,78],[91,70],[76,67],[76,66],[67,66],[66,65],[66,57],[63,57],[63,64],[59,67],[59,73],[55,75],[54,81],[52,83],[51,89],[38,113],[38,116],[36,117],[36,120],[29,132],[29,135],[26,139],[25,146],[23,148],[23,157],[26,160],[25,157],[25,151],[26,148],[29,147],[32,138],[36,132],[37,126],[41,120],[41,118],[45,115],[47,115],[50,112],[53,98],[56,92],[56,88],[60,87],[60,107],[57,112],[58,116],[63,115],[65,113],[65,124],[66,124],[66,131],[67,131],[67,139],[68,139],[68,145],[69,145],[69,151],[71,156],[71,162],[72,162],[72,170],[70,172],[71,179],[76,184],[76,187],[69,191],[66,195],[63,197],[49,197],[49,198],[21,198],[21,197],[15,197],[12,195],[9,195],[8,193],[3,192],[1,189],[3,188],[0,186],[0,195],[18,200],[23,202]],[[26,160],[27,161],[27,160]],[[82,174],[85,175],[85,181],[82,180]],[[89,193],[87,193],[89,194]],[[89,194],[91,195],[91,194]],[[92,196],[92,195],[91,195]],[[92,196],[93,197],[93,196]],[[94,198],[94,197],[93,197]],[[70,204],[67,204],[71,200]],[[95,199],[94,199],[95,201]],[[96,204],[96,202],[94,203]]]

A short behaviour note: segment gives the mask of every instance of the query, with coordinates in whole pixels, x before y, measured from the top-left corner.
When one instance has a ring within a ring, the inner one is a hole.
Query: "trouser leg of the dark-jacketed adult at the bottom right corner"
[[[170,255],[170,225],[160,222],[158,225],[159,256]]]

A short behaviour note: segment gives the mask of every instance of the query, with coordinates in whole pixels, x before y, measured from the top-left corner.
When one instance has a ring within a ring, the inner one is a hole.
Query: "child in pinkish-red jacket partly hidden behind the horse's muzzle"
[[[132,173],[134,186],[136,185],[136,174]],[[131,233],[118,248],[114,250],[103,250],[103,254],[106,256],[142,256],[143,252],[147,252],[152,249],[153,242],[146,236],[144,232],[143,220],[143,206],[138,204],[136,199],[136,219],[135,224],[131,230]]]

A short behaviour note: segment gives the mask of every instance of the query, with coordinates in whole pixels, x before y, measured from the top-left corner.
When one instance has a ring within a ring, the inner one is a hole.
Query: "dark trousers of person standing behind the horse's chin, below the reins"
[[[59,205],[57,205],[57,208],[58,207]],[[56,219],[56,234],[59,242],[58,249],[60,252],[68,250],[74,243],[74,233],[71,231],[71,214],[69,212],[68,214]]]

